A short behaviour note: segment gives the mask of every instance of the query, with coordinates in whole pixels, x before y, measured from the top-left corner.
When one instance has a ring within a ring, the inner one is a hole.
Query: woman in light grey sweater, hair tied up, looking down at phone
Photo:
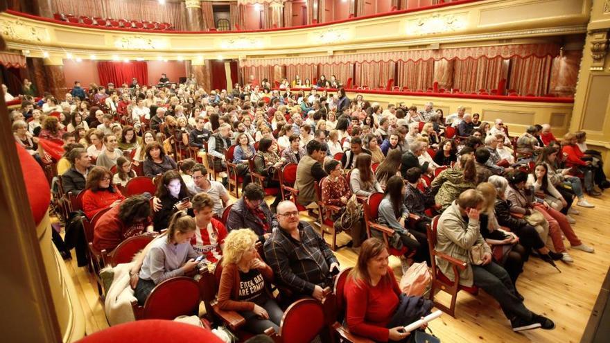
[[[157,238],[146,247],[134,292],[138,304],[144,305],[155,285],[195,269],[199,256],[191,245],[195,229],[193,217],[177,211],[171,216],[166,238]]]

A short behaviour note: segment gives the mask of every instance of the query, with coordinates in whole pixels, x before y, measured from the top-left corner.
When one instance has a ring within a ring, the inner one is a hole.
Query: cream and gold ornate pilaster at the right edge
[[[570,132],[586,132],[589,147],[602,152],[602,159],[610,158],[610,1],[593,1],[591,21],[587,27],[582,62],[578,73],[576,96]],[[565,118],[554,125],[567,121]],[[610,164],[604,164],[610,173]]]

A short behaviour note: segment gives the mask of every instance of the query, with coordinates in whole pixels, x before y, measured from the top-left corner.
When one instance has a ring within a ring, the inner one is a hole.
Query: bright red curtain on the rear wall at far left
[[[98,62],[100,84],[114,83],[118,88],[121,84],[131,85],[132,78],[136,78],[140,85],[148,83],[148,64],[144,61],[134,62]]]

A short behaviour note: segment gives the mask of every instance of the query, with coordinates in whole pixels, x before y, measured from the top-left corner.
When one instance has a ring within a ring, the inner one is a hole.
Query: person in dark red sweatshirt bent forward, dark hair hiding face
[[[150,200],[146,195],[133,195],[104,213],[94,227],[93,246],[111,252],[123,240],[139,236],[150,227]]]

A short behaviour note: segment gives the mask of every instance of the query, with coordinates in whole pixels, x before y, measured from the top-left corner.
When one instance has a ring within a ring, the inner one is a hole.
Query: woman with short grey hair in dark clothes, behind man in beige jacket
[[[561,259],[562,254],[552,252],[546,247],[545,241],[548,236],[548,227],[546,232],[539,233],[536,228],[532,227],[530,223],[523,218],[516,218],[510,213],[512,203],[506,199],[506,188],[508,181],[502,176],[491,175],[487,182],[496,187],[497,199],[494,204],[496,211],[496,219],[498,224],[503,227],[508,227],[513,234],[519,237],[519,243],[525,247],[528,254],[531,249],[535,249],[540,258],[552,265],[555,265],[552,261],[558,261]],[[544,237],[541,238],[541,236]]]

